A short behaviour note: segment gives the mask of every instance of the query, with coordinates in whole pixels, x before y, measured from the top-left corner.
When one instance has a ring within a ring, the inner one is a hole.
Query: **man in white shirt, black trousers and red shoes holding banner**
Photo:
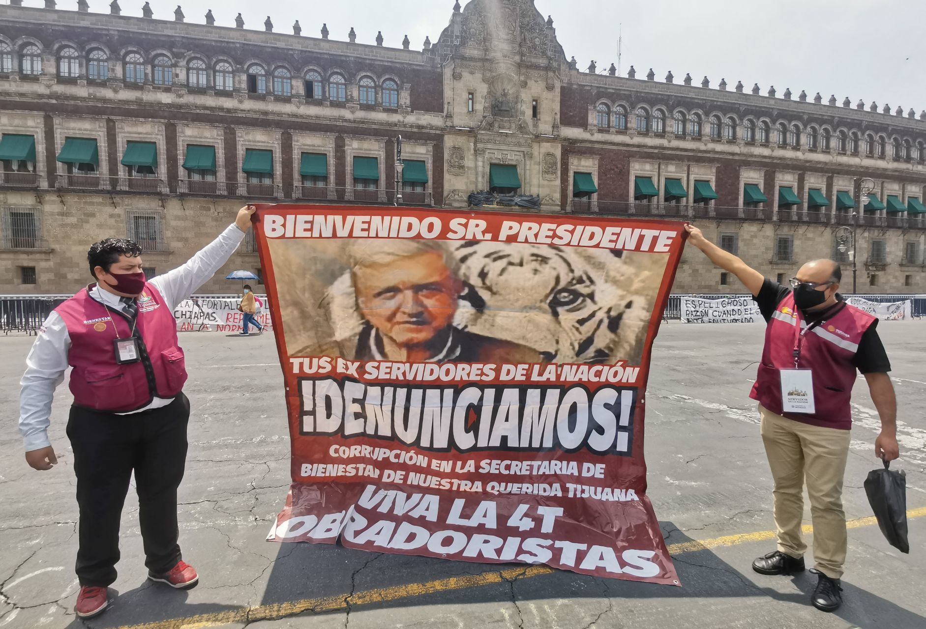
[[[106,609],[116,580],[119,520],[132,472],[148,578],[193,587],[193,566],[177,544],[177,487],[186,459],[190,401],[173,310],[215,275],[251,226],[252,206],[185,265],[146,280],[142,249],[108,238],[87,253],[94,284],[59,305],[26,358],[19,395],[19,431],[26,462],[56,464],[48,440],[52,397],[70,374],[74,396],[68,438],[74,452],[80,541],[76,611],[90,618]]]

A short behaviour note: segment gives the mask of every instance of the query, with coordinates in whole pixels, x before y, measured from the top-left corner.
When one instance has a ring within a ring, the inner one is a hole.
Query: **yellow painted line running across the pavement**
[[[917,518],[926,515],[926,507],[911,509],[907,511],[907,519]],[[859,528],[861,526],[870,526],[877,524],[878,521],[874,516],[867,518],[857,518],[848,520],[845,525],[847,528]],[[805,533],[813,533],[813,526],[805,525]],[[669,546],[669,553],[672,555],[681,555],[686,552],[696,552],[698,550],[717,549],[725,546],[736,546],[746,542],[763,541],[774,539],[774,531],[757,531],[756,533],[744,533],[742,535],[730,535],[714,537],[712,539],[692,540]],[[369,605],[371,603],[389,602],[401,598],[418,597],[424,594],[434,594],[437,592],[449,592],[452,590],[465,589],[468,587],[491,586],[515,579],[528,579],[533,576],[550,574],[555,572],[553,568],[546,566],[523,566],[517,568],[508,568],[495,572],[485,572],[480,574],[466,574],[464,576],[452,576],[446,579],[437,579],[427,583],[411,583],[405,586],[379,587],[376,589],[357,592],[357,594],[344,594],[336,597],[323,598],[303,598],[302,600],[287,601],[284,603],[274,603],[272,605],[257,605],[256,607],[242,607],[228,611],[217,611],[214,613],[204,613],[196,616],[186,616],[183,618],[172,618],[166,621],[156,621],[154,623],[126,624],[118,629],[204,629],[205,627],[215,627],[222,624],[244,623],[255,621],[269,621],[294,616],[304,611],[340,611],[349,607],[354,608],[357,605]]]

